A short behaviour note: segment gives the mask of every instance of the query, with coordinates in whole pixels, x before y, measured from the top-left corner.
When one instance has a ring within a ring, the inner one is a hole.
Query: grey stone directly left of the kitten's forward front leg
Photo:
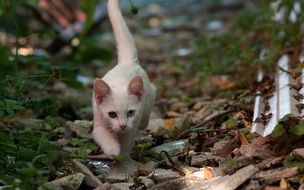
[[[66,125],[75,132],[79,137],[91,139],[91,132],[93,130],[93,122],[86,120],[68,121]]]

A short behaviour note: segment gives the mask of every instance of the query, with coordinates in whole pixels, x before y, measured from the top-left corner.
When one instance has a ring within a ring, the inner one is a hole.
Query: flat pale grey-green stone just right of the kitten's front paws
[[[171,141],[150,149],[149,153],[152,157],[159,160],[163,159],[165,156],[164,154],[160,154],[162,151],[168,152],[170,156],[177,156],[182,149],[185,148],[187,143],[188,139]]]

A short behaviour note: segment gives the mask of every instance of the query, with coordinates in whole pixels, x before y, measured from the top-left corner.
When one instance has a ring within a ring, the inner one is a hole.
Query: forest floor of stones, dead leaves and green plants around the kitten
[[[251,133],[257,90],[275,88],[279,56],[302,53],[301,24],[277,24],[251,1],[127,8],[157,98],[133,160],[111,160],[90,135],[92,83],[116,60],[108,19],[49,53],[56,32],[11,6],[21,11],[0,28],[1,189],[304,189],[303,123],[288,117],[272,135]]]

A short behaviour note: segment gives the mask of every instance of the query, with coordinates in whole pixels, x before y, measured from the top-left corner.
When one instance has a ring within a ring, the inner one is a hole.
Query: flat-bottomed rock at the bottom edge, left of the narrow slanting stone
[[[85,175],[82,173],[75,173],[73,175],[68,175],[59,179],[56,179],[54,181],[48,182],[45,184],[45,186],[48,189],[71,189],[71,190],[77,190]]]

